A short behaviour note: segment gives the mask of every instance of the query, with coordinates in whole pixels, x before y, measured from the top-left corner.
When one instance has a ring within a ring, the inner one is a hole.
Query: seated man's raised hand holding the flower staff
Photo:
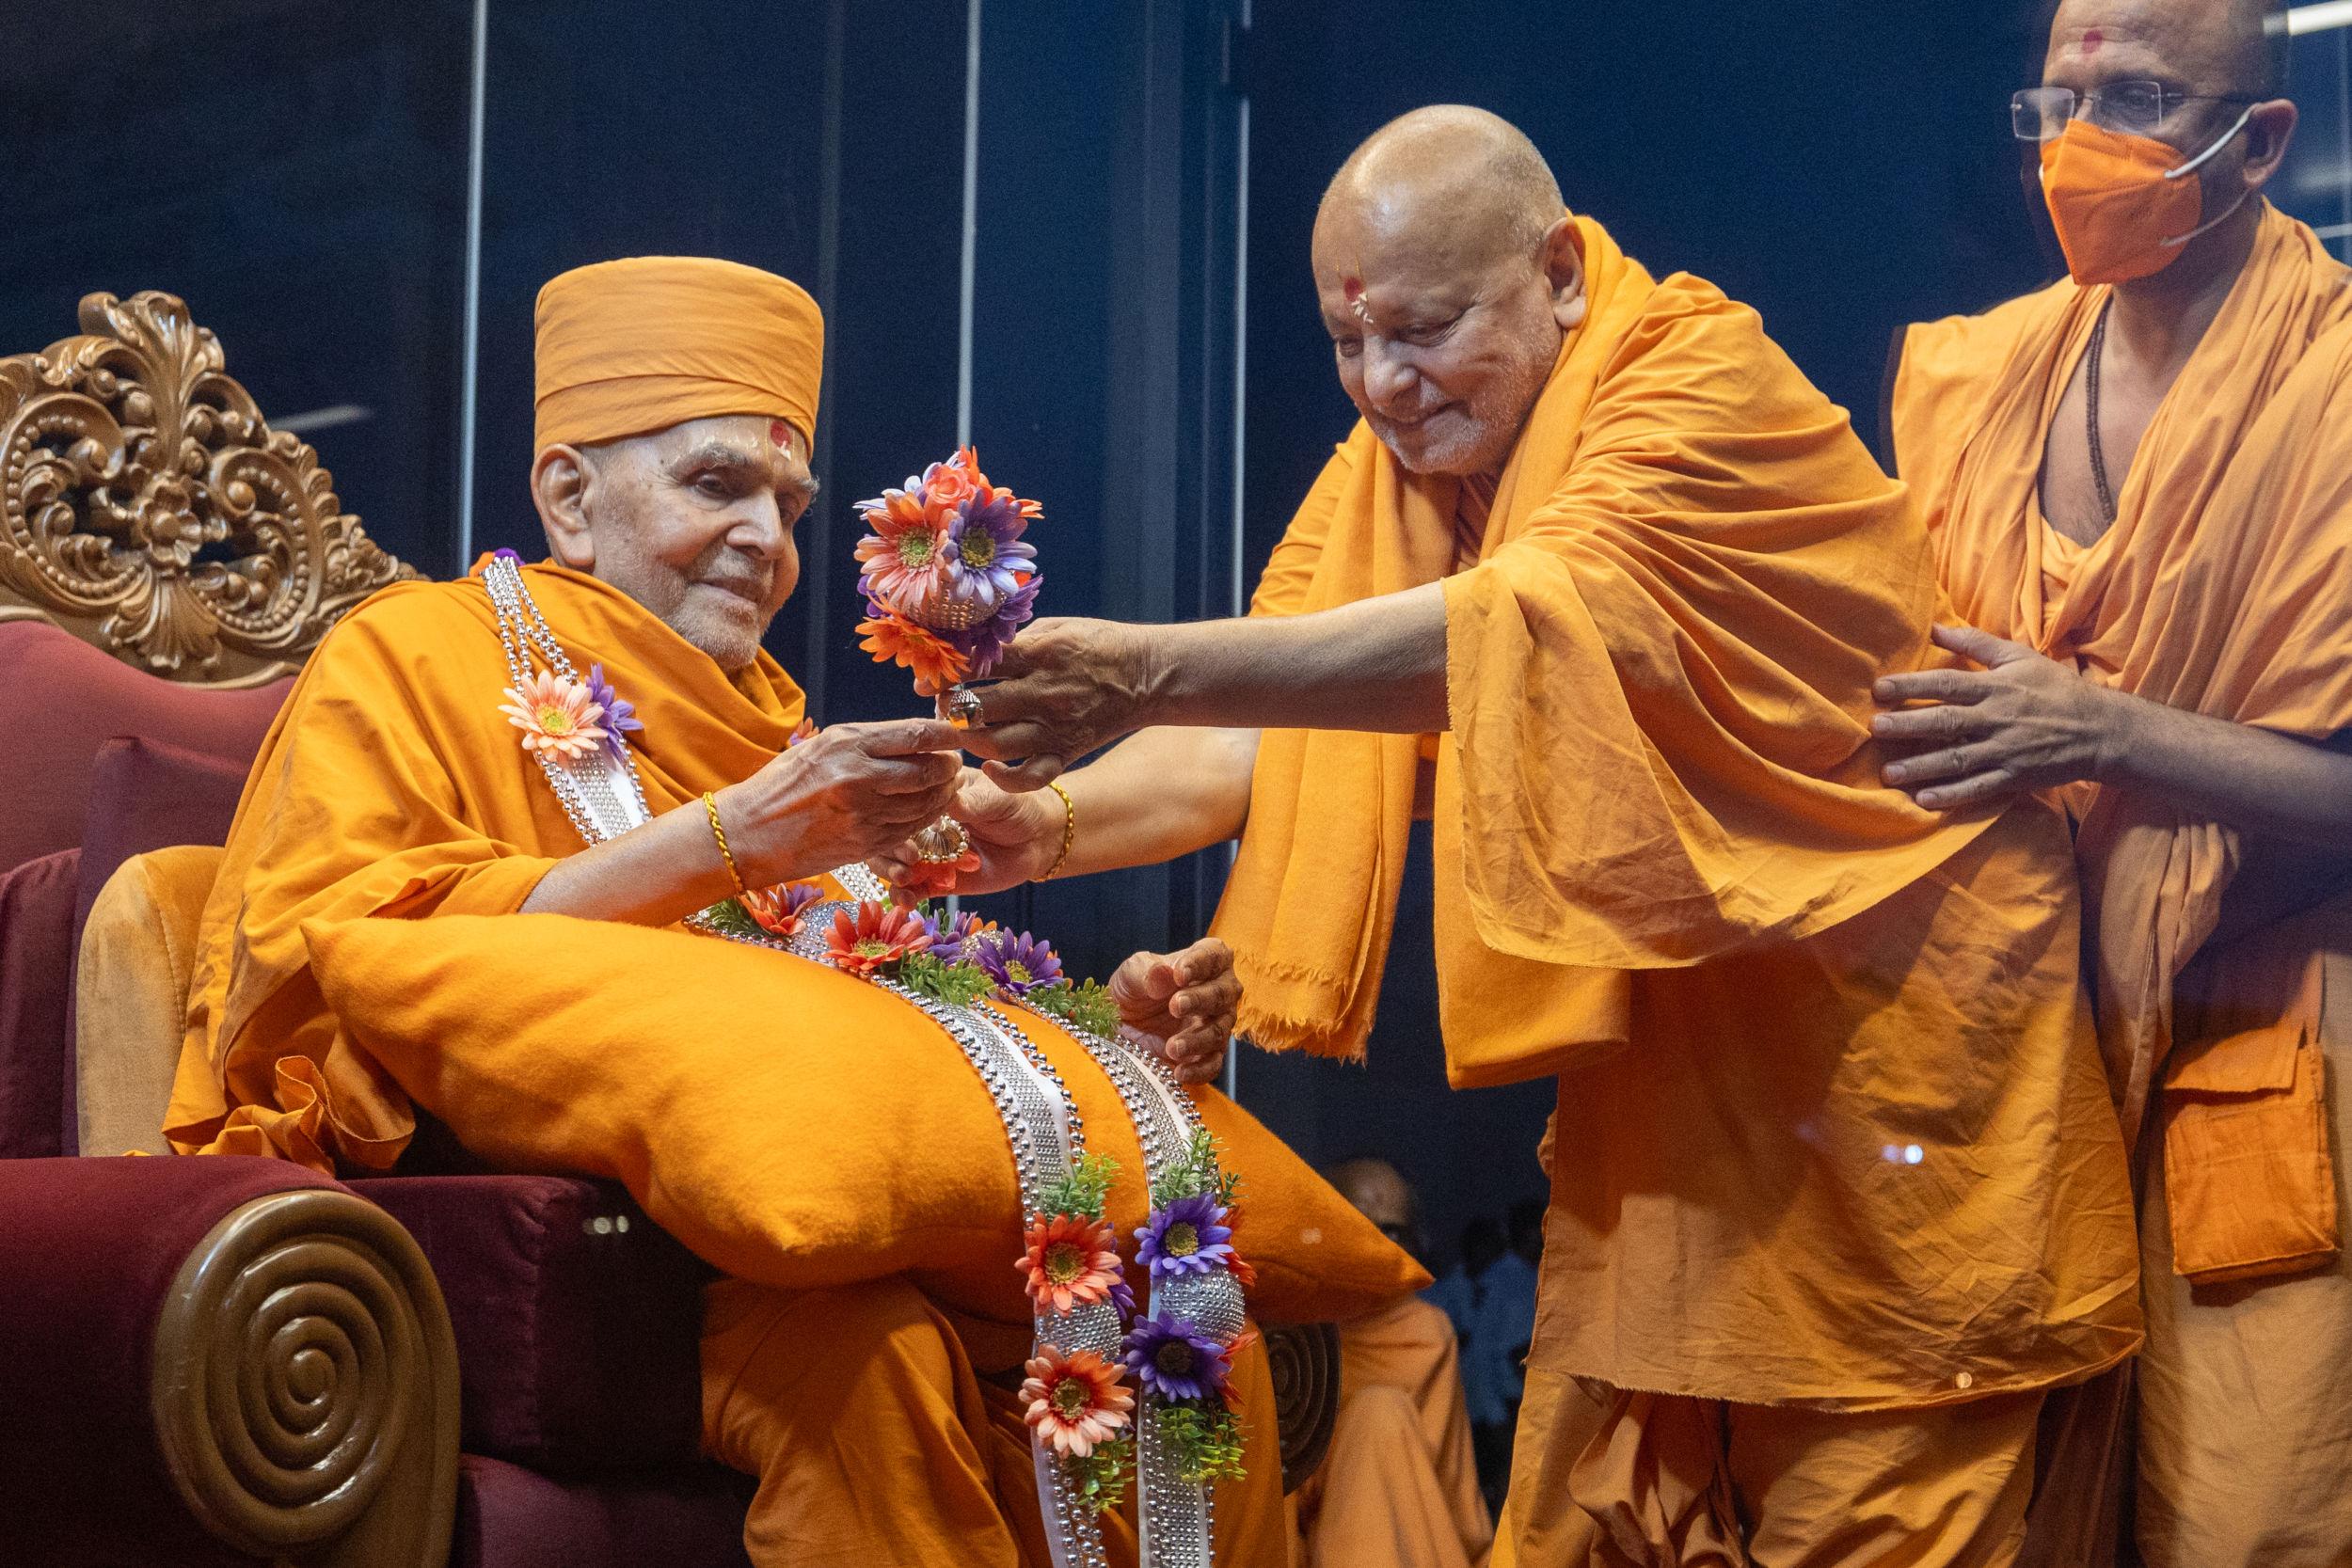
[[[835,724],[720,790],[743,882],[816,877],[903,844],[955,799],[962,741],[941,719]]]

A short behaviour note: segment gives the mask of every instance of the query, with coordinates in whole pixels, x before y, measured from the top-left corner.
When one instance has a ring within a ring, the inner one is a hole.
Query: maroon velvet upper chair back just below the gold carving
[[[111,736],[162,741],[242,771],[294,684],[176,686],[42,621],[0,621],[0,736],[9,738],[0,870],[82,842],[92,764]]]

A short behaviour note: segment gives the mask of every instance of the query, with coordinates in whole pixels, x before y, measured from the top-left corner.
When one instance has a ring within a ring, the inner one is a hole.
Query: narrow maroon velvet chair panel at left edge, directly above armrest
[[[82,851],[0,870],[0,1159],[64,1154],[73,891]],[[9,1284],[0,1281],[0,1291]]]

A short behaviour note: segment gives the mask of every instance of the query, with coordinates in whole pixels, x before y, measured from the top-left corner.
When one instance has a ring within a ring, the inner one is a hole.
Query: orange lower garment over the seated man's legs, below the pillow
[[[931,1302],[906,1281],[706,1293],[703,1448],[760,1476],[743,1521],[757,1568],[1044,1568],[1030,1432],[1007,1382],[1028,1331]],[[1235,1361],[1249,1479],[1216,1490],[1216,1561],[1291,1561],[1265,1349]],[[1103,1521],[1136,1561],[1134,1497]]]

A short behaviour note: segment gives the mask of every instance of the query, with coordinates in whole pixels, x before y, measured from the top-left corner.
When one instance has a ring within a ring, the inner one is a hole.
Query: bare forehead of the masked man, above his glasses
[[[2060,0],[2044,80],[2154,80],[2190,94],[2286,94],[2286,5],[2279,0]]]

